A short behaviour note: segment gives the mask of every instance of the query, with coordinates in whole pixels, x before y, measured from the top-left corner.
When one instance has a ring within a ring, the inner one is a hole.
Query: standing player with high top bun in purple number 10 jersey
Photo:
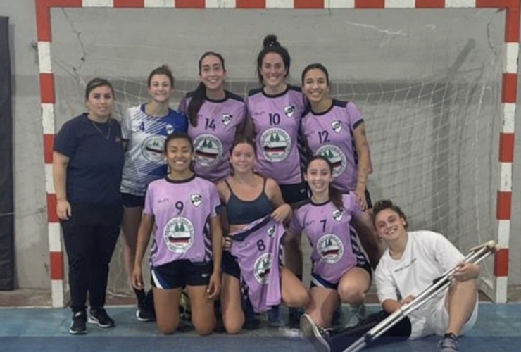
[[[291,57],[275,35],[263,40],[263,49],[257,56],[257,73],[262,87],[248,94],[247,131],[255,138],[257,150],[256,170],[272,177],[280,185],[282,197],[289,204],[308,198],[301,170],[299,130],[304,99],[301,90],[287,84]],[[302,279],[301,245],[294,237],[285,245],[286,264]],[[290,320],[295,316],[290,312]],[[268,314],[273,325],[280,322],[275,308]]]

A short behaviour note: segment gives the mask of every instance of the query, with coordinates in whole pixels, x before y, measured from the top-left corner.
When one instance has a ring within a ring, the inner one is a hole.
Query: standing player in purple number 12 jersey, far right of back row
[[[303,115],[301,133],[311,154],[320,154],[333,165],[333,185],[344,193],[352,192],[365,213],[358,228],[360,241],[373,268],[382,250],[372,226],[372,208],[366,189],[371,161],[365,123],[352,102],[329,97],[329,73],[324,65],[312,63],[302,72],[302,90],[309,101]]]

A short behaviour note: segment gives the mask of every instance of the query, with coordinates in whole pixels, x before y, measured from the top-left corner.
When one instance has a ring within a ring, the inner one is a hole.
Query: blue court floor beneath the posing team
[[[377,306],[370,306],[371,311]],[[213,334],[199,337],[190,327],[175,335],[163,337],[153,322],[138,322],[133,307],[108,307],[117,326],[101,329],[89,325],[89,333],[70,336],[70,310],[53,308],[0,309],[0,351],[226,351],[226,352],[313,352],[301,337],[284,336],[279,329],[263,327],[237,336]],[[375,352],[434,352],[439,337],[398,342],[366,348]],[[521,303],[480,303],[477,323],[460,338],[460,351],[519,352],[521,351]]]

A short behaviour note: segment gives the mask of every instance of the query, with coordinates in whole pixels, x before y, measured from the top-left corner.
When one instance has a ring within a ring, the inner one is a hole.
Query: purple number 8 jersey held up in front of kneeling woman
[[[284,226],[272,220],[270,215],[230,234],[230,252],[237,258],[244,293],[256,313],[263,313],[282,301],[280,257],[283,237]]]

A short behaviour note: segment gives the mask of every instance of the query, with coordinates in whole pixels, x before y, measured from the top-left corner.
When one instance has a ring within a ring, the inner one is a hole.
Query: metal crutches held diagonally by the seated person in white
[[[451,270],[447,270],[444,275],[434,279],[432,284],[421,291],[420,294],[418,294],[418,296],[413,299],[413,301],[404,304],[401,306],[401,308],[389,315],[389,317],[382,320],[382,322],[379,322],[378,325],[366,332],[363,337],[360,337],[360,339],[346,348],[344,352],[358,352],[365,346],[368,346],[368,344],[370,344],[372,341],[382,336],[384,332],[387,332],[387,330],[391,329],[391,327],[394,327],[394,325],[396,325],[400,320],[406,318],[406,316],[412,313],[414,310],[417,310],[423,306],[427,301],[429,301],[430,298],[436,296],[441,291],[444,291],[444,289],[446,289],[451,284],[454,273],[461,264],[479,264],[482,260],[484,260],[484,258],[487,258],[496,250],[497,246],[496,242],[494,241],[488,241],[487,243],[475,246],[474,248],[470,249],[470,252],[467,254],[467,256],[465,256],[465,258],[463,258],[463,261],[460,264],[456,265],[456,267],[452,268]]]

